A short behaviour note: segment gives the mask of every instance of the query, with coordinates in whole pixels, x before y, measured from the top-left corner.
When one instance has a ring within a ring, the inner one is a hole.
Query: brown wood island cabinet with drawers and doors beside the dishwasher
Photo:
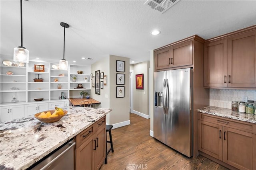
[[[98,170],[106,156],[106,116],[76,136],[76,170]]]

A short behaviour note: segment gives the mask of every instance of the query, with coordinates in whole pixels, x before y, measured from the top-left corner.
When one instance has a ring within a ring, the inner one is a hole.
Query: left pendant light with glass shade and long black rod
[[[13,61],[19,63],[28,63],[28,50],[23,47],[22,43],[22,0],[20,0],[20,30],[21,30],[21,46],[15,47],[13,50]]]

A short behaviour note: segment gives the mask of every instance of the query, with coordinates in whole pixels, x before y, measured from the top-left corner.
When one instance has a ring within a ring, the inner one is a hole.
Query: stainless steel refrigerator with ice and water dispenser
[[[192,156],[192,68],[154,72],[154,138]]]

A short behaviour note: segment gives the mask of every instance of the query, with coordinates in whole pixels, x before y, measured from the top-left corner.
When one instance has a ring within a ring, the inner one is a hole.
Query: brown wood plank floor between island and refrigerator
[[[204,156],[188,158],[176,152],[151,137],[149,130],[150,119],[130,114],[130,125],[112,130],[114,152],[100,170],[227,170]]]

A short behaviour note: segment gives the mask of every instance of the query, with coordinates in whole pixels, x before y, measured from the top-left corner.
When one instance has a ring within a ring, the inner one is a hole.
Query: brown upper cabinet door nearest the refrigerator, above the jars
[[[204,86],[227,87],[227,40],[204,45]]]

